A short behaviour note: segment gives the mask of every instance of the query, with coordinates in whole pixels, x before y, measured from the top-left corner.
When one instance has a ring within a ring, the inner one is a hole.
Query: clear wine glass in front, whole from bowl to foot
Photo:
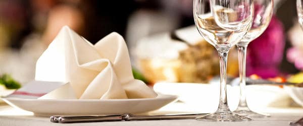
[[[252,120],[249,117],[231,112],[228,107],[226,65],[230,48],[237,44],[251,27],[253,8],[252,0],[224,0],[224,2],[222,0],[194,0],[193,16],[197,30],[205,40],[217,49],[220,58],[220,100],[218,109],[214,113],[196,118],[197,120]],[[222,17],[228,21],[221,20]],[[233,30],[222,28],[217,22]],[[236,27],[237,25],[239,27]]]

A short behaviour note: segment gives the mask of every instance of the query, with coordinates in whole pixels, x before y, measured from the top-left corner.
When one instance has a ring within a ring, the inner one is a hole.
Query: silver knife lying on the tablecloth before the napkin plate
[[[130,113],[110,115],[57,115],[51,116],[51,122],[75,123],[75,122],[96,122],[96,121],[132,121],[132,120],[162,120],[162,119],[194,119],[208,113],[195,114],[168,114],[168,115],[134,115]]]

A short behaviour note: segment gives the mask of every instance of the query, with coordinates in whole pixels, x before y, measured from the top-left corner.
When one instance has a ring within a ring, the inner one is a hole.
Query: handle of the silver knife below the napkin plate
[[[121,121],[121,115],[105,115],[105,116],[60,116],[59,123],[74,122],[96,122],[96,121]]]

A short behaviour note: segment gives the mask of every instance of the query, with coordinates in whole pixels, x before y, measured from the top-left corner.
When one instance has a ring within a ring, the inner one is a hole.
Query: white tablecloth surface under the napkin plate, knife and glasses
[[[176,103],[171,103],[163,109],[150,112],[151,114],[176,113],[167,111]],[[88,122],[88,123],[53,123],[48,117],[36,117],[32,112],[13,108],[7,104],[0,104],[0,125],[288,125],[289,122],[303,117],[302,107],[266,108],[262,112],[271,114],[268,118],[254,118],[253,121],[241,122],[212,122],[197,121],[194,119],[181,120],[149,120],[149,121],[115,121],[115,122]]]

